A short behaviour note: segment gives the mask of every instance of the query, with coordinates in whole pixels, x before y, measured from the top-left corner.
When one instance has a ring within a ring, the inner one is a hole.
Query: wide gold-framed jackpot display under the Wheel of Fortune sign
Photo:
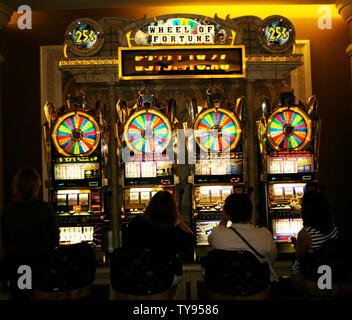
[[[244,46],[119,47],[119,78],[243,78]]]

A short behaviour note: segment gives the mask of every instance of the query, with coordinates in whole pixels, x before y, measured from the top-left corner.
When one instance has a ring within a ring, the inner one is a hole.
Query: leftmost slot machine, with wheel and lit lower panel
[[[60,110],[44,107],[50,155],[49,201],[58,218],[60,244],[88,242],[104,257],[108,131],[101,102],[69,98]],[[97,253],[97,255],[100,255]]]

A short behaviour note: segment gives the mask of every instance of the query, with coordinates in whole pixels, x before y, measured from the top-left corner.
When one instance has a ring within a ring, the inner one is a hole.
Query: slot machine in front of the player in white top
[[[189,182],[193,184],[197,251],[202,252],[209,246],[211,230],[220,223],[227,196],[248,192],[246,110],[243,97],[225,106],[221,92],[213,88],[208,89],[203,107],[195,110],[192,106],[194,137],[188,142],[188,150],[194,155],[194,172]]]

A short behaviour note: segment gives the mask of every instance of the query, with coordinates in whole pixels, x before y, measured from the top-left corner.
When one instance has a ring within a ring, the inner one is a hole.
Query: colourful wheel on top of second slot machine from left
[[[135,153],[161,153],[171,140],[169,120],[154,109],[141,109],[133,113],[124,127],[124,139]]]

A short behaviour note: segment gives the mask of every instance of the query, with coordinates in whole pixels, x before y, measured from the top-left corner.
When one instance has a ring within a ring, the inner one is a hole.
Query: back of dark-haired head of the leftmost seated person
[[[12,181],[13,199],[30,201],[38,198],[41,186],[40,175],[34,168],[25,167],[18,170]]]

